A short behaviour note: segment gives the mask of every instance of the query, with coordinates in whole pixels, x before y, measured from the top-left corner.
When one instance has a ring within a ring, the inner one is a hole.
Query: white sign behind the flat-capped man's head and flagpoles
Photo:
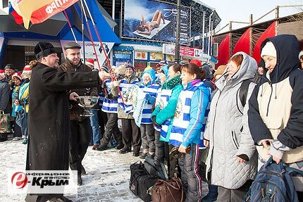
[[[66,42],[70,42],[70,41],[66,41],[66,40],[60,41],[63,52],[64,52],[63,46],[66,44]],[[78,44],[80,44],[80,46],[83,47],[82,42],[78,42]],[[111,49],[113,48],[114,43],[113,42],[103,42],[102,44],[106,51],[106,55],[109,56],[109,53],[111,52]],[[99,64],[101,66],[106,61],[106,56],[103,52],[103,49],[101,48],[100,42],[94,42],[94,47],[96,49]],[[85,42],[85,59],[88,59],[88,58],[94,59],[94,61],[95,61],[94,66],[95,66],[95,68],[98,68],[96,55],[94,53],[94,47],[92,46],[92,42]],[[81,56],[83,59],[83,49],[80,49],[80,52],[81,52]]]

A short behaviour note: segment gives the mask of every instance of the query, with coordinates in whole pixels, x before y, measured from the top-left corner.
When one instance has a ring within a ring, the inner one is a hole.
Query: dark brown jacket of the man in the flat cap
[[[89,66],[83,64],[81,61],[78,65],[73,65],[72,63],[70,63],[70,61],[68,61],[68,59],[66,59],[66,61],[59,66],[58,71],[92,72],[92,69],[89,68]],[[88,87],[88,88],[78,88],[77,87],[75,89],[70,89],[69,92],[70,93],[75,92],[79,96],[89,96],[89,95],[98,96],[98,91],[97,91],[96,87],[92,87],[92,88],[91,87]],[[82,121],[85,118],[89,118],[89,117],[80,116],[80,114],[82,114],[83,112],[84,112],[84,109],[78,105],[78,102],[70,101],[70,120]]]

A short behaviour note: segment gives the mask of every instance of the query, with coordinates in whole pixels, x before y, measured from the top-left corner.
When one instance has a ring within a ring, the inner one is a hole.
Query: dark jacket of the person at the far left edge
[[[11,87],[6,78],[0,81],[0,110],[4,113],[11,113]]]

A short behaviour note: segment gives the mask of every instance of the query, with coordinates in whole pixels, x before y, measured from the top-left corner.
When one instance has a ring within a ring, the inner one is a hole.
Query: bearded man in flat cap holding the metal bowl
[[[92,72],[89,66],[81,61],[81,46],[76,42],[67,42],[64,45],[66,61],[60,65],[58,71],[62,72]],[[70,89],[79,96],[98,96],[97,88],[76,87]],[[87,151],[89,141],[92,138],[92,127],[89,117],[81,116],[84,109],[81,108],[76,101],[70,101],[70,153],[69,163],[71,170],[78,170],[78,185],[82,185],[82,160]],[[85,174],[85,173],[83,173]]]

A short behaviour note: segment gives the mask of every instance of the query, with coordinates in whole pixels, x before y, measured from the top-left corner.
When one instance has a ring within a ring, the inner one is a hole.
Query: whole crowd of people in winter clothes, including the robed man
[[[116,147],[121,155],[132,152],[166,163],[169,177],[181,178],[185,201],[242,201],[271,156],[303,170],[298,44],[294,35],[283,34],[263,42],[259,64],[238,52],[214,72],[197,59],[183,65],[161,61],[157,71],[147,67],[138,77],[129,62],[101,70],[93,60],[82,63],[75,42],[64,46],[66,61],[58,65],[54,46],[39,42],[37,61],[22,72],[12,64],[0,72],[0,110],[13,117],[13,140],[28,142],[27,170],[68,170],[69,165],[82,185],[88,146],[96,152]],[[125,95],[134,85],[146,100],[140,127]],[[99,96],[94,115],[82,116],[79,96]],[[2,133],[1,141],[6,139]],[[302,201],[303,179],[293,177]],[[50,198],[70,201],[63,194],[26,200]]]

